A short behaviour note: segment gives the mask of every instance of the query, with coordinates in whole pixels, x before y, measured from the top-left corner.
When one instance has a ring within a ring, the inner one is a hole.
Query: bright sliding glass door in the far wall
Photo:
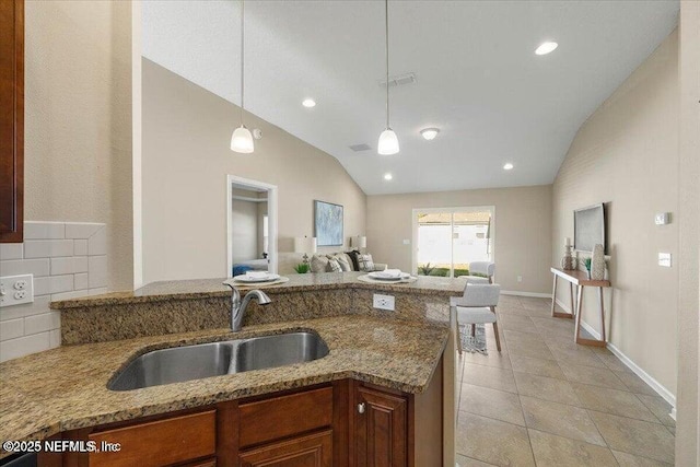
[[[413,209],[413,273],[459,277],[469,262],[493,260],[495,209]]]

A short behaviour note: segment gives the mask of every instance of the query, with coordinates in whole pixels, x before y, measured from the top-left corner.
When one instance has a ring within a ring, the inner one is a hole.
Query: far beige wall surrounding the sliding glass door
[[[368,197],[368,252],[392,268],[411,270],[412,210],[495,206],[497,280],[503,290],[550,288],[551,185]],[[523,276],[523,282],[517,282]]]

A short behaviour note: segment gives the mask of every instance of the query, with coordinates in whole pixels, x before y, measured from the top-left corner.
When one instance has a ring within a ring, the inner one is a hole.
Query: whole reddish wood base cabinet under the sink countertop
[[[120,448],[44,455],[39,466],[439,467],[441,388],[442,367],[422,395],[343,380],[81,429],[59,436]]]

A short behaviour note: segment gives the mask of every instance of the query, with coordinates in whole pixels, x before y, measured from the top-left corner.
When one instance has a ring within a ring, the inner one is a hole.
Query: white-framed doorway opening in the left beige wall
[[[226,277],[277,273],[277,186],[226,176]]]

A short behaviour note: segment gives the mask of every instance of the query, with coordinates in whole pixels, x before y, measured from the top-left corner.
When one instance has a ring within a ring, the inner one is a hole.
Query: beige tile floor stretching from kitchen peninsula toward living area
[[[464,353],[457,464],[670,466],[670,406],[608,350],[573,342],[550,301],[503,295],[502,352]]]

